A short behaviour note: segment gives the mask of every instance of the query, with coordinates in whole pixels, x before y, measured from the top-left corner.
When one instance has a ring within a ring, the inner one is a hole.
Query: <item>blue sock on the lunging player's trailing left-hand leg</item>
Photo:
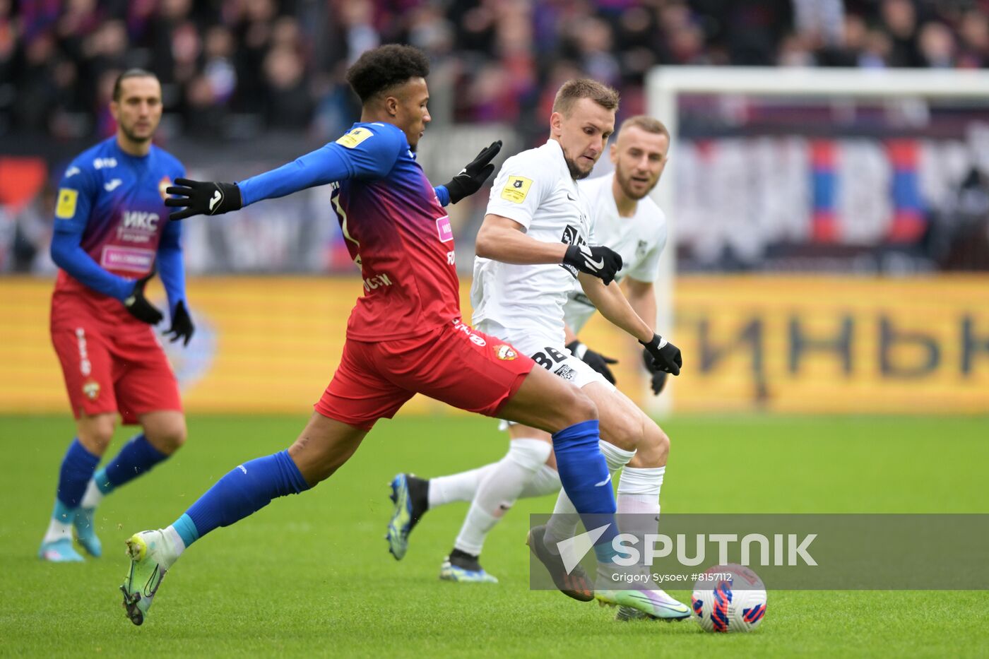
[[[172,526],[188,547],[214,528],[229,526],[261,510],[276,497],[299,494],[309,489],[289,451],[280,451],[238,465],[217,481]]]

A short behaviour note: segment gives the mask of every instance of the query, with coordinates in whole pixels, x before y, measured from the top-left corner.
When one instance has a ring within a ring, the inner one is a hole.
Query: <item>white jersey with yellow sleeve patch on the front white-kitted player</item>
[[[487,212],[514,220],[537,240],[596,244],[590,207],[555,140],[504,161]],[[516,335],[537,333],[562,346],[563,306],[576,279],[577,269],[563,264],[515,265],[475,257],[473,324],[483,331],[499,327]]]

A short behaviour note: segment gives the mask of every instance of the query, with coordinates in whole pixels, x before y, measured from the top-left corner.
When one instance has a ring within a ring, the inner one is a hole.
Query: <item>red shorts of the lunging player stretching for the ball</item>
[[[347,339],[315,411],[365,430],[391,419],[414,394],[494,417],[535,364],[509,343],[459,321],[420,336]]]

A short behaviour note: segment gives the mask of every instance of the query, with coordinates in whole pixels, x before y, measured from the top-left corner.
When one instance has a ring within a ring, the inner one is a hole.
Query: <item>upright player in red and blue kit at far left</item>
[[[93,514],[104,495],[171,455],[186,437],[178,385],[151,326],[162,314],[146,298],[155,269],[168,296],[172,340],[188,344],[182,224],[170,222],[165,189],[182,164],[151,143],[161,85],[131,69],[118,77],[110,110],[117,134],[81,153],[58,185],[51,257],[51,342],[61,362],[76,438],[62,459],[54,511],[39,555],[83,560],[102,553]],[[117,414],[142,432],[103,469]],[[94,474],[95,472],[95,474]]]

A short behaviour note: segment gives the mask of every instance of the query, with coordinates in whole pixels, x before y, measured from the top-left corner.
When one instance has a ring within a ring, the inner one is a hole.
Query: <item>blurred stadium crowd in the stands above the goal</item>
[[[656,64],[986,67],[989,0],[0,0],[0,137],[113,132],[113,77],[164,83],[166,134],[329,138],[364,50],[426,50],[436,119],[520,122],[580,72],[643,109]]]

